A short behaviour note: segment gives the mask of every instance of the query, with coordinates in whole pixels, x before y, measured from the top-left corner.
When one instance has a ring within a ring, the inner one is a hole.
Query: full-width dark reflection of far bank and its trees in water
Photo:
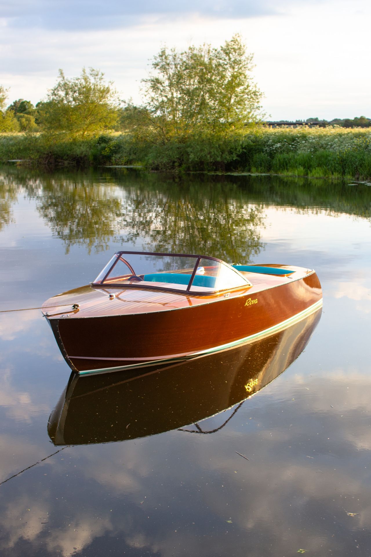
[[[133,169],[47,174],[7,167],[0,174],[0,229],[11,222],[12,204],[22,193],[36,200],[66,253],[75,245],[99,252],[115,241],[128,249],[137,245],[138,250],[248,262],[262,247],[265,207],[371,218],[371,189],[364,184],[277,176],[179,177]]]

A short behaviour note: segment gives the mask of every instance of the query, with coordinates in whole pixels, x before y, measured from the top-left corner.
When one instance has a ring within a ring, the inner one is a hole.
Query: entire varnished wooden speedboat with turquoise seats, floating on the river
[[[90,374],[224,350],[321,303],[311,269],[120,251],[90,285],[48,299],[42,310],[68,365]]]

